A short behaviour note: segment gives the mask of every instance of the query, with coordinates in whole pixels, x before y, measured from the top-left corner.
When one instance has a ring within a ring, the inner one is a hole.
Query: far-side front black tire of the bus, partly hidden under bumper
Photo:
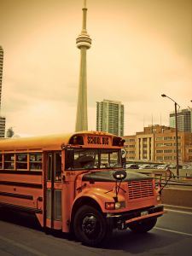
[[[154,228],[156,222],[157,218],[146,218],[129,224],[129,228],[136,233],[146,233]]]

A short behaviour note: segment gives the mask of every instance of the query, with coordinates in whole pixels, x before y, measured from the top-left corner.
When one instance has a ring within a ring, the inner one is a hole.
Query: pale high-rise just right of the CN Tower
[[[96,102],[96,131],[124,135],[124,105],[121,102]]]

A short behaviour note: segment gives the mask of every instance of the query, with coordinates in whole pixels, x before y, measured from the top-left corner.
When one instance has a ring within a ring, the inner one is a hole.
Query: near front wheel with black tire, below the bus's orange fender
[[[111,234],[102,212],[90,206],[80,207],[73,221],[73,230],[76,238],[85,245],[96,247]]]

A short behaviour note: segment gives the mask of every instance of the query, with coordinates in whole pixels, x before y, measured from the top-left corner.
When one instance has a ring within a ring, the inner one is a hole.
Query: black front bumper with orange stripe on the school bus
[[[130,212],[107,213],[107,221],[114,229],[125,230],[128,227],[128,224],[132,222],[137,222],[146,218],[158,218],[164,213],[164,207],[160,205]]]

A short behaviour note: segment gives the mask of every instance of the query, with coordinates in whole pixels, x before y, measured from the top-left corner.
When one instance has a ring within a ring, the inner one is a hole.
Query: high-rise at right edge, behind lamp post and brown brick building
[[[172,128],[176,128],[175,113],[170,113],[169,125]],[[177,112],[177,129],[178,131],[192,132],[192,111],[190,109],[182,109]]]

